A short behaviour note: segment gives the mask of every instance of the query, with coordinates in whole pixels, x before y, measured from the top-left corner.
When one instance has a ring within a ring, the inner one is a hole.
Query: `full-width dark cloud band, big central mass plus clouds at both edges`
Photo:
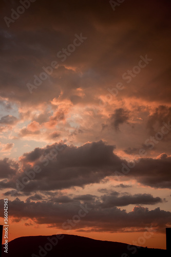
[[[33,163],[34,167],[40,167],[40,171],[34,172],[33,180],[27,179],[29,180],[28,185],[18,186],[24,192],[83,187],[90,183],[100,182],[109,176],[113,176],[113,178],[116,176],[118,179],[116,171],[120,172],[121,180],[131,178],[136,179],[142,185],[171,188],[170,156],[163,154],[158,159],[140,158],[136,160],[134,168],[128,168],[130,164],[114,154],[114,149],[114,146],[106,145],[103,141],[86,143],[79,147],[62,146],[62,144],[55,143],[42,149],[36,148],[20,158],[18,164],[22,165],[24,172],[19,173],[15,166],[13,172],[16,173],[16,176],[1,181],[1,186],[2,188],[16,189],[18,180],[23,184],[22,181],[25,181],[23,178],[28,177],[29,173],[33,171],[30,166],[30,163]],[[5,164],[7,165],[7,160]],[[4,169],[3,174],[4,177],[7,177]]]

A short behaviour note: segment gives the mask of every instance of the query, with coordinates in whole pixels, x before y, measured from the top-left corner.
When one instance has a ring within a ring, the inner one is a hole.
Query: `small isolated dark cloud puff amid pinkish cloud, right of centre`
[[[115,110],[115,113],[111,115],[110,121],[111,125],[116,131],[119,130],[119,125],[127,122],[129,119],[129,111],[119,108]]]

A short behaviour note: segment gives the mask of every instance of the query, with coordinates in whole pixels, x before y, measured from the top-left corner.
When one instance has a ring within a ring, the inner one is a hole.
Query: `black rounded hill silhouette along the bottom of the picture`
[[[68,234],[19,237],[8,243],[8,254],[4,252],[4,245],[2,250],[2,257],[167,256],[166,250],[163,249],[137,248],[124,243],[100,241]]]

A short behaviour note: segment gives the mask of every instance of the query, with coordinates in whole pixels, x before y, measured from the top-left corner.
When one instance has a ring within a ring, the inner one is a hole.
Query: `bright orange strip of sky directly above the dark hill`
[[[3,222],[3,219],[1,223]],[[32,236],[32,235],[52,235],[52,234],[75,234],[80,236],[90,237],[96,240],[104,240],[104,241],[113,241],[113,242],[122,242],[127,243],[130,245],[138,245],[148,248],[153,248],[156,245],[156,248],[166,249],[166,236],[164,233],[153,233],[150,236],[150,233],[147,233],[147,237],[144,237],[144,232],[126,232],[126,233],[104,233],[104,232],[78,232],[77,230],[59,230],[49,228],[47,230],[46,225],[42,225],[40,227],[36,227],[35,229],[32,226],[25,227],[24,223],[20,225],[20,230],[18,230],[18,223],[11,223],[9,228],[9,241],[13,240],[14,238],[20,236]],[[143,239],[142,239],[143,237]],[[3,243],[5,242],[3,238]]]

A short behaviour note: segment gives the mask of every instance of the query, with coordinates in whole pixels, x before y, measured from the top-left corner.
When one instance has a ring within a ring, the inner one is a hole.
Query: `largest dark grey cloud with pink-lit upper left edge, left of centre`
[[[25,167],[28,170],[27,163],[34,160],[34,164],[40,165],[42,168],[42,171],[36,174],[35,179],[25,187],[26,190],[36,190],[37,183],[39,183],[40,190],[62,189],[72,186],[82,187],[87,183],[99,182],[111,174],[113,164],[116,166],[121,164],[120,158],[112,153],[115,147],[105,145],[102,141],[86,143],[79,148],[66,146],[65,149],[58,152],[56,158],[50,161],[48,156],[52,158],[50,155],[55,146],[58,144],[47,146],[44,149],[37,148],[23,156],[24,170]],[[59,145],[59,148],[61,147]],[[106,165],[108,169],[105,171]],[[17,178],[20,180],[22,177],[19,175]]]

